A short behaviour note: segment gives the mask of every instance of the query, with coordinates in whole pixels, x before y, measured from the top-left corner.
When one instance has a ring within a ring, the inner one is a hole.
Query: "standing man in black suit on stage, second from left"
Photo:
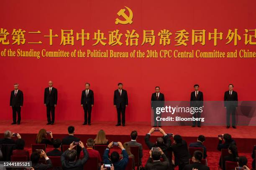
[[[53,82],[48,82],[49,87],[44,89],[44,105],[46,106],[46,113],[47,113],[47,124],[46,125],[53,125],[55,119],[55,107],[57,105],[58,99],[58,91],[54,88]]]

